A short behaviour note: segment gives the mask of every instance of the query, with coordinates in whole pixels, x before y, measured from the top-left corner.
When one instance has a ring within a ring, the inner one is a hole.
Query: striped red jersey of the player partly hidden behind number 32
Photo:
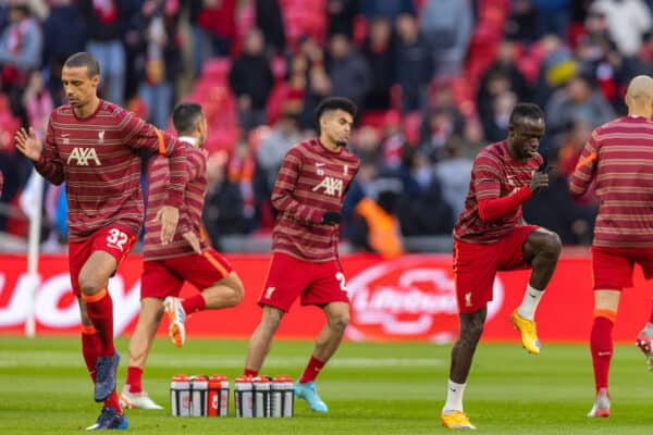
[[[180,140],[184,141],[184,138]],[[201,211],[207,192],[207,151],[198,148],[188,148],[186,151],[186,173],[188,183],[184,195],[184,203],[180,209],[180,223],[173,240],[161,245],[161,224],[155,217],[159,210],[165,206],[168,189],[170,188],[170,166],[168,159],[155,156],[147,167],[147,212],[145,219],[144,259],[163,260],[172,257],[193,254],[193,248],[182,236],[192,231],[200,237]],[[201,249],[208,248],[206,240],[201,240]]]

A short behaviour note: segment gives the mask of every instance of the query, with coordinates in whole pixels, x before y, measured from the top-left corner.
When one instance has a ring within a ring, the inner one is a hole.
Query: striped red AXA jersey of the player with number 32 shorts
[[[180,207],[186,185],[186,148],[126,110],[100,100],[90,116],[70,104],[50,114],[36,170],[50,183],[65,182],[70,241],[79,243],[108,225],[137,236],[143,223],[140,149],[170,158],[168,203]]]

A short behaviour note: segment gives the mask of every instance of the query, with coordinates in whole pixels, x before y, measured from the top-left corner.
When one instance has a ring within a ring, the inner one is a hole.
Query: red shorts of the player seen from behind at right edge
[[[644,277],[653,277],[653,248],[592,247],[594,289],[621,290],[632,287],[632,269],[641,265]]]

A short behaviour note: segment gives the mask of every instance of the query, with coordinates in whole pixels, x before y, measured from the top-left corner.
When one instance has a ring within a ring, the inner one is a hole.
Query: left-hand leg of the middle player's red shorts
[[[310,283],[311,264],[286,253],[274,252],[270,259],[259,306],[287,312]]]

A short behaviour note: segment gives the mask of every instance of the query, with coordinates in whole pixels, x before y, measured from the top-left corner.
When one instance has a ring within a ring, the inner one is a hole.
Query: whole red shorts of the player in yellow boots
[[[492,300],[497,271],[530,269],[530,264],[523,261],[523,244],[538,228],[540,227],[535,225],[517,226],[510,234],[493,244],[454,240],[454,277],[458,312],[478,311]]]

